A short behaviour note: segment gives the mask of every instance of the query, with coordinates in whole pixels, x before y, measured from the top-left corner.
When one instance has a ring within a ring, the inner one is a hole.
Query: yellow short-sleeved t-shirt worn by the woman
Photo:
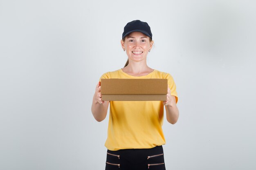
[[[101,79],[168,79],[171,95],[178,100],[173,77],[154,70],[148,75],[132,76],[122,69],[107,72]],[[165,144],[162,124],[164,105],[162,101],[110,101],[108,138],[105,146],[108,150],[153,148]]]

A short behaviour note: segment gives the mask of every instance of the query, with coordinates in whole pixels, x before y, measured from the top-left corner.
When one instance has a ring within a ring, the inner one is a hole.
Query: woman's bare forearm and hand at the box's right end
[[[171,89],[168,88],[167,100],[163,101],[166,110],[166,119],[169,123],[175,124],[179,118],[179,110],[176,105],[176,97],[171,95]]]

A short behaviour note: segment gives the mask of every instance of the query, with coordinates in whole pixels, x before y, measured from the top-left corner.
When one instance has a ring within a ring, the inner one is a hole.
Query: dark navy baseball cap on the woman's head
[[[140,20],[134,20],[126,24],[126,26],[124,27],[124,33],[122,35],[122,39],[124,39],[126,35],[134,31],[139,31],[141,33],[144,33],[152,40],[152,33],[150,30],[150,26],[148,25],[148,23],[142,22]]]

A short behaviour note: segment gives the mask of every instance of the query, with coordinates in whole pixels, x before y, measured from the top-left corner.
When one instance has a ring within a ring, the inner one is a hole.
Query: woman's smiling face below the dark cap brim
[[[121,40],[122,48],[126,50],[129,61],[146,60],[148,50],[151,50],[153,41],[141,32],[132,32],[126,36],[125,40]]]

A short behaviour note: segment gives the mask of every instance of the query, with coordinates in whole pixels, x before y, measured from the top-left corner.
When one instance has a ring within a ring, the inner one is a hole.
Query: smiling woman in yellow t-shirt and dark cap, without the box
[[[173,77],[147,66],[146,57],[152,49],[153,40],[150,26],[135,20],[124,27],[121,46],[128,60],[124,68],[108,72],[104,78],[125,79],[168,79],[166,101],[102,101],[101,84],[96,86],[92,102],[92,114],[97,121],[106,118],[110,103],[110,118],[106,170],[165,170],[165,144],[162,124],[164,106],[167,121],[175,124],[179,117],[176,106],[177,92]]]

